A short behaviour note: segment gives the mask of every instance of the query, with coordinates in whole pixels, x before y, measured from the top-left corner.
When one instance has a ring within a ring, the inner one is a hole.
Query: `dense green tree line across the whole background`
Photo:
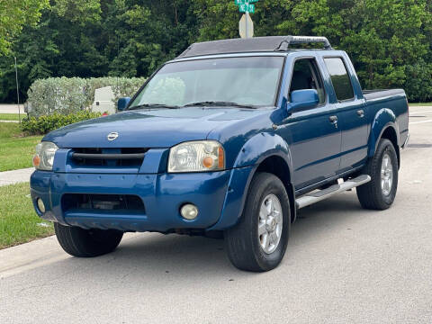
[[[11,3],[30,8],[25,5],[43,2],[7,0],[4,15],[4,1],[0,35],[4,22],[11,22]],[[50,4],[39,23],[37,17],[21,23],[21,35],[8,38],[24,96],[40,77],[149,76],[194,41],[237,38],[241,17],[234,0]],[[256,36],[326,36],[333,47],[347,50],[364,87],[403,87],[410,100],[432,100],[431,0],[260,0],[256,10]],[[14,89],[14,61],[0,56],[0,102],[13,100]]]

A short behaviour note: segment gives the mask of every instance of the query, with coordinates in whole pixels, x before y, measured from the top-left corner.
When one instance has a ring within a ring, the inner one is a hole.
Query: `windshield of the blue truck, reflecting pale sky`
[[[283,57],[211,58],[168,63],[141,89],[130,108],[237,103],[273,106]]]

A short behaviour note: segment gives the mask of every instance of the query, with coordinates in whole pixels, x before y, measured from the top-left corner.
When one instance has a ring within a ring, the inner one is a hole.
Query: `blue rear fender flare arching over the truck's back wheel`
[[[372,128],[369,136],[369,148],[367,152],[368,157],[374,157],[378,143],[383,137],[383,132],[389,127],[392,128],[396,133],[397,145],[399,146],[399,127],[396,122],[396,115],[391,109],[383,108],[376,112],[374,121],[372,122]]]

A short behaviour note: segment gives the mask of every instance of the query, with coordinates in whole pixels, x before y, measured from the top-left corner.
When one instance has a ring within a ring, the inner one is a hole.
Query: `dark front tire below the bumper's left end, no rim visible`
[[[81,229],[54,223],[58,243],[73,257],[98,257],[112,252],[123,232],[115,229]]]

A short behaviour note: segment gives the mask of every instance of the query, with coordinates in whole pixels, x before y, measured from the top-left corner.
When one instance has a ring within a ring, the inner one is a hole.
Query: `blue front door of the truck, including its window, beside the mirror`
[[[299,190],[336,175],[339,166],[341,132],[336,107],[329,103],[317,60],[297,58],[293,62],[288,98],[295,90],[317,90],[320,103],[305,110],[293,111],[281,134],[290,143],[294,185]]]

